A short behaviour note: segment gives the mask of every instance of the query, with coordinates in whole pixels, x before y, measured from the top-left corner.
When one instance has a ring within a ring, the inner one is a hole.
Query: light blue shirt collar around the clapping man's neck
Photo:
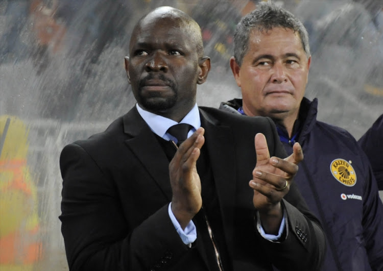
[[[143,110],[138,104],[136,104],[136,108],[140,116],[143,118],[143,120],[145,120],[153,133],[162,137],[163,139],[171,139],[166,131],[171,126],[178,124],[177,121]],[[188,137],[201,127],[200,111],[198,110],[197,104],[194,105],[192,110],[190,110],[189,113],[187,113],[179,123],[189,124],[193,127],[193,129],[190,130]]]

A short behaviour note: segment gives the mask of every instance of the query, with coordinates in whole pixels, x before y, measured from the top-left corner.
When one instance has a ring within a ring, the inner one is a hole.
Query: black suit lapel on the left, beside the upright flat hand
[[[132,108],[123,118],[124,132],[131,136],[126,140],[129,149],[134,153],[142,166],[157,183],[166,198],[171,201],[172,188],[169,181],[169,160],[152,130]]]

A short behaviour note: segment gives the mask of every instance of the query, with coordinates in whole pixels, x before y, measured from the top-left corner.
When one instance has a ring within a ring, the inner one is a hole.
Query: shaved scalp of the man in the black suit
[[[142,28],[159,28],[161,27],[161,22],[164,21],[170,21],[174,28],[182,29],[182,31],[187,33],[187,35],[190,37],[190,40],[195,42],[198,56],[203,56],[203,41],[200,26],[185,12],[173,7],[159,7],[143,16],[134,26],[132,37],[137,35],[137,33],[140,32]],[[132,40],[133,39],[130,41],[130,47],[132,46]]]

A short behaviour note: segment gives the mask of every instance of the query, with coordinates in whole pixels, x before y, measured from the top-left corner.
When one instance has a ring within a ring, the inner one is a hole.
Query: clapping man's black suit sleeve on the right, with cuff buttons
[[[274,134],[275,155],[285,157],[275,125],[269,119]],[[287,213],[286,239],[282,242],[262,240],[273,264],[280,270],[319,270],[326,252],[326,237],[319,220],[311,213],[293,182],[282,200]]]

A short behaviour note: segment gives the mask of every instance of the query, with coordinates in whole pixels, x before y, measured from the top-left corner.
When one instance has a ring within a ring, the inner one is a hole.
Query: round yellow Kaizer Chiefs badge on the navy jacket
[[[356,174],[351,166],[351,161],[347,162],[344,159],[335,159],[331,162],[330,170],[332,176],[340,183],[346,186],[353,186],[356,183]]]

